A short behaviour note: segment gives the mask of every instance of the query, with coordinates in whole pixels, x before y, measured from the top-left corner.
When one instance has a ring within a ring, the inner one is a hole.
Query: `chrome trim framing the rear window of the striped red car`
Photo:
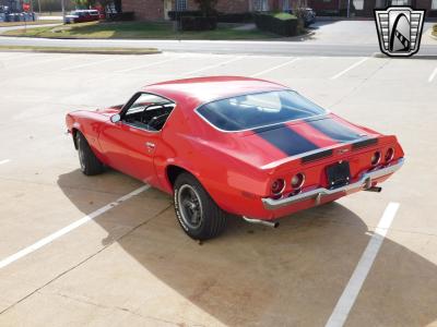
[[[265,124],[265,125],[261,125],[261,126],[256,126],[256,128],[251,128],[251,129],[244,129],[244,130],[238,130],[238,131],[226,131],[226,130],[223,130],[223,129],[221,129],[221,128],[214,125],[212,122],[210,122],[206,118],[204,118],[204,117],[198,111],[198,110],[199,110],[200,108],[202,108],[203,106],[209,105],[209,104],[212,104],[212,102],[216,102],[216,101],[221,101],[221,100],[226,100],[226,99],[232,99],[232,98],[240,97],[240,96],[257,95],[257,94],[264,94],[264,93],[271,93],[271,92],[281,92],[281,90],[294,92],[294,93],[296,93],[296,94],[298,94],[298,95],[300,96],[300,94],[299,94],[298,92],[296,92],[296,90],[294,90],[294,89],[292,89],[292,88],[279,88],[279,89],[260,90],[260,92],[253,92],[253,93],[241,93],[241,94],[236,94],[236,95],[226,96],[226,97],[220,97],[220,98],[216,98],[216,99],[213,99],[213,100],[210,100],[210,101],[202,102],[201,105],[199,105],[198,107],[196,107],[194,112],[196,112],[203,121],[205,121],[210,126],[212,126],[213,129],[215,129],[215,130],[217,130],[217,131],[220,131],[220,132],[223,132],[223,133],[241,133],[241,132],[247,132],[247,131],[253,131],[253,130],[257,130],[257,129],[264,129],[264,128],[270,128],[270,126],[276,126],[276,125],[280,125],[280,124],[285,124],[285,123],[294,122],[294,121],[305,121],[306,119],[321,118],[321,117],[326,117],[326,116],[328,116],[328,114],[331,113],[330,110],[328,110],[328,109],[322,108],[322,107],[319,106],[321,109],[323,109],[324,112],[323,112],[323,113],[320,113],[320,114],[312,116],[312,117],[298,118],[298,119],[291,119],[291,120],[287,120],[287,121],[282,121],[282,122],[277,122],[277,123],[273,123],[273,124]],[[304,97],[304,98],[305,98],[305,97]],[[311,99],[309,99],[309,100],[312,102]],[[317,105],[317,106],[318,106],[318,105]]]

